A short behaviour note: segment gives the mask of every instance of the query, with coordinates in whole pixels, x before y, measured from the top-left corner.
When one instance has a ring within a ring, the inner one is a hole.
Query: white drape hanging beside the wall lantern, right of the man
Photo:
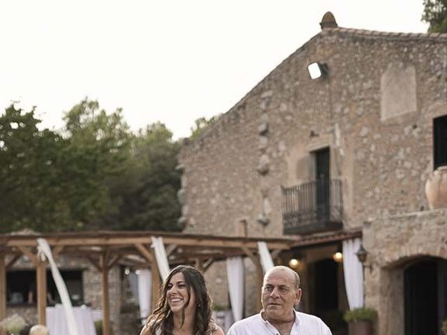
[[[363,268],[356,255],[360,244],[360,239],[343,241],[344,284],[350,309],[363,306]]]

